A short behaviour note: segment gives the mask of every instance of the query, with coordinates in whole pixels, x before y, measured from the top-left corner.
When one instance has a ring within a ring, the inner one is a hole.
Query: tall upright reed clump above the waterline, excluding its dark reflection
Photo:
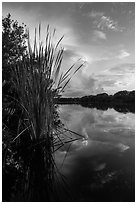
[[[70,76],[75,64],[64,74],[60,73],[64,49],[60,46],[61,37],[53,44],[55,30],[50,33],[47,27],[46,42],[40,41],[41,27],[39,25],[39,42],[35,30],[35,41],[32,46],[28,39],[27,57],[17,62],[13,67],[13,85],[19,100],[17,101],[25,114],[25,126],[29,130],[32,141],[46,139],[53,148],[53,129],[55,98],[58,98],[71,80],[72,76],[83,66],[81,64]],[[24,122],[24,121],[23,121]],[[19,133],[14,140],[21,137]]]

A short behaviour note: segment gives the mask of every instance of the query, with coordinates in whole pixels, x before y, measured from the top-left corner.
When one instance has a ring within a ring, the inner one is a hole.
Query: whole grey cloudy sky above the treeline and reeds
[[[62,70],[81,58],[85,66],[75,75],[65,96],[83,96],[135,87],[135,5],[132,2],[3,3],[3,17],[11,13],[34,28],[47,24],[56,37],[65,35]]]

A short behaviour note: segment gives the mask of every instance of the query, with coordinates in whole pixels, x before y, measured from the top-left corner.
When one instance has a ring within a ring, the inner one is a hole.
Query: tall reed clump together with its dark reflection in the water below
[[[40,25],[38,33],[37,36],[35,29],[33,45],[28,37],[27,55],[12,67],[11,80],[16,97],[10,96],[9,100],[16,104],[19,111],[11,144],[17,147],[19,158],[23,158],[22,168],[25,172],[20,185],[22,197],[17,196],[16,192],[16,198],[20,197],[17,201],[51,201],[55,175],[54,152],[70,141],[64,139],[65,132],[69,130],[61,130],[61,125],[59,127],[56,100],[72,76],[83,66],[81,64],[75,69],[73,64],[62,73],[63,37],[53,43],[55,30],[51,33],[47,26],[43,44]]]

